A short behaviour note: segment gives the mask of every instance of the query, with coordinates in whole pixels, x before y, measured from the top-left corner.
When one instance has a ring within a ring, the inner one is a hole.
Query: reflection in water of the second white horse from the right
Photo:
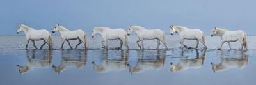
[[[205,55],[206,50],[204,50],[204,53],[202,56],[199,55],[198,50],[196,50],[196,58],[192,59],[181,59],[181,61],[177,65],[173,65],[173,63],[170,63],[170,72],[181,72],[184,70],[188,70],[189,68],[201,68],[204,66],[205,63]],[[181,52],[181,57],[184,57],[184,51]]]

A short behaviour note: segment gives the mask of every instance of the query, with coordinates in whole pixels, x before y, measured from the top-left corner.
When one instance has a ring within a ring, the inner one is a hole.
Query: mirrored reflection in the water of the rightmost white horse
[[[223,72],[232,68],[243,69],[248,65],[248,56],[241,53],[239,58],[221,57],[221,62],[214,64],[211,62],[213,72]]]

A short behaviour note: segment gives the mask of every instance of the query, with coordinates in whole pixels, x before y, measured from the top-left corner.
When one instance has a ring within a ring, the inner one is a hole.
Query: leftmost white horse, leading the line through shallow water
[[[42,49],[46,43],[49,46],[49,49],[53,49],[53,38],[49,31],[45,29],[36,30],[24,24],[20,24],[17,30],[17,34],[19,34],[21,31],[24,31],[27,38],[26,49],[28,48],[28,43],[30,40],[33,42],[33,46],[35,47],[35,49],[38,49],[35,45],[35,41],[39,40],[44,40],[44,44],[41,45],[40,49]]]

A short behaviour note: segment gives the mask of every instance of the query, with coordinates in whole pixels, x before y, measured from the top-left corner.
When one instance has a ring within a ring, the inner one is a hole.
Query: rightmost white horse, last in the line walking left
[[[222,45],[227,42],[229,45],[229,49],[231,49],[230,42],[236,42],[239,41],[241,43],[241,50],[246,49],[248,50],[247,40],[246,40],[246,34],[244,31],[229,31],[227,29],[220,29],[218,27],[214,27],[211,33],[211,36],[220,36],[221,37],[221,45],[219,50],[221,50]]]

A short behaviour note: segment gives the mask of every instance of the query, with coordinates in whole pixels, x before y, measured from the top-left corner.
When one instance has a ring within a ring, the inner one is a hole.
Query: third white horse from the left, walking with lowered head
[[[126,35],[124,29],[111,29],[109,27],[94,27],[92,31],[92,38],[99,33],[102,35],[102,46],[104,49],[108,49],[108,40],[120,40],[120,49],[122,49],[123,42],[127,49],[129,37]]]

